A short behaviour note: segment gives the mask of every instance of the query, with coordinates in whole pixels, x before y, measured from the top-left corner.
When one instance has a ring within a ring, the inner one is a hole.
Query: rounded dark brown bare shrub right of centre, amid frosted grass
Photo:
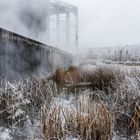
[[[115,90],[118,80],[123,78],[119,69],[111,67],[99,67],[93,73],[88,75],[88,81],[92,83],[93,90],[99,89],[106,93],[108,90]]]

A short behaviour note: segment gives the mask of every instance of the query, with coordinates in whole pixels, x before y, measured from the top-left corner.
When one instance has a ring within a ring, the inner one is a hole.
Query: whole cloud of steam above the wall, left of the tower
[[[48,0],[0,0],[0,27],[43,41],[47,8]]]

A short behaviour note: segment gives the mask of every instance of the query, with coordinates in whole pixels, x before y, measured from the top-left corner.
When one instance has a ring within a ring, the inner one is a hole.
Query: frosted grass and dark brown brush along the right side
[[[82,81],[91,83],[90,98],[106,104],[113,114],[113,131],[128,137],[137,134],[140,131],[140,71],[115,66],[100,66],[93,72],[77,70]]]

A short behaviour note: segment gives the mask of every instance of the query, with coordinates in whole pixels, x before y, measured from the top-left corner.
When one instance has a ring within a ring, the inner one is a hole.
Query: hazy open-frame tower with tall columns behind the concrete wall
[[[47,17],[49,43],[55,40],[56,46],[59,46],[63,39],[67,44],[72,42],[78,46],[78,7],[60,0],[49,0]]]

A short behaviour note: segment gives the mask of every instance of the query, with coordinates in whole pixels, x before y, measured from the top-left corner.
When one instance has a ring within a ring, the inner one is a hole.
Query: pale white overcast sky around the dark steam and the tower
[[[36,1],[38,4],[42,3],[42,0]],[[116,46],[140,42],[140,0],[65,1],[79,7],[81,47]],[[10,29],[12,25],[14,30],[22,27],[13,18],[17,9],[14,7],[16,2],[17,0],[0,0],[0,26]],[[2,5],[2,3],[5,4]],[[4,14],[6,3],[7,6],[14,7],[8,14]]]

